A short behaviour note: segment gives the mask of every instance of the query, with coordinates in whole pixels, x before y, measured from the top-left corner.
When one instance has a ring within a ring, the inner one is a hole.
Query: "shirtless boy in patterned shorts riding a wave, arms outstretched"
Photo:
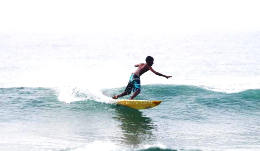
[[[140,76],[142,74],[144,74],[145,72],[147,72],[148,70],[152,71],[153,73],[155,73],[158,76],[162,76],[165,78],[171,78],[171,76],[166,76],[163,75],[161,73],[158,73],[156,71],[154,71],[154,69],[152,68],[152,65],[154,64],[154,58],[151,56],[147,56],[145,59],[146,64],[144,63],[140,63],[140,64],[135,64],[135,67],[138,67],[137,70],[135,72],[133,72],[131,74],[131,77],[129,79],[128,85],[125,88],[125,91],[119,95],[115,95],[114,97],[112,97],[112,99],[117,99],[119,97],[125,96],[125,95],[129,95],[131,93],[131,91],[134,92],[134,94],[132,95],[132,97],[129,100],[133,100],[133,98],[135,98],[139,93],[141,93],[141,82],[140,82]]]

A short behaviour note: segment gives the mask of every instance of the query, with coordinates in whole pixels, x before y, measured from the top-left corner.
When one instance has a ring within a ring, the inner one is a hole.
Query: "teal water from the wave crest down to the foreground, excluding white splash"
[[[59,101],[51,88],[1,88],[1,148],[10,145],[15,150],[259,148],[259,89],[232,94],[185,85],[144,85],[143,89],[136,99],[163,102],[152,109],[135,110],[101,100],[65,103]],[[124,87],[104,89],[102,93],[123,90]],[[82,94],[76,93],[75,97],[82,98]]]

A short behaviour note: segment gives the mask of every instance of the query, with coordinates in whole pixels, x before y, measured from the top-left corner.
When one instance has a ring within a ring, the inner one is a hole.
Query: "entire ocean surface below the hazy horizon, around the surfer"
[[[6,31],[0,52],[1,151],[260,150],[260,30]],[[112,104],[146,56],[172,78],[135,99],[163,102]]]

